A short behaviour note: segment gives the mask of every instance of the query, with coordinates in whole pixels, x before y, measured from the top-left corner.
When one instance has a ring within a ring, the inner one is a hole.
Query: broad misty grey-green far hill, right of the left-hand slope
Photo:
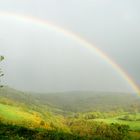
[[[110,111],[114,109],[132,110],[140,107],[140,98],[130,93],[104,92],[58,92],[32,94],[42,104],[51,104],[65,111]]]

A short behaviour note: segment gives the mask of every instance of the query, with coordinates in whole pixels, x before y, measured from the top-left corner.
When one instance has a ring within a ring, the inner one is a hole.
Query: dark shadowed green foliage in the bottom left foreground
[[[86,140],[86,138],[57,130],[38,131],[0,123],[0,140]]]

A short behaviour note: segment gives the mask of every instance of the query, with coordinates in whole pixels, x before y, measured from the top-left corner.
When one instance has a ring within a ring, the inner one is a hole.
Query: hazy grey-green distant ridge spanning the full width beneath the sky
[[[114,109],[130,110],[140,108],[138,96],[130,93],[73,91],[56,93],[26,93],[8,86],[0,89],[0,97],[28,105],[45,105],[64,111],[110,111]]]

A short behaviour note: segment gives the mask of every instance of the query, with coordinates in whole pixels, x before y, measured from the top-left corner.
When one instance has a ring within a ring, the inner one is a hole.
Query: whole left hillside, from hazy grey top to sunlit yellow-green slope
[[[63,111],[43,106],[31,95],[4,87],[0,89],[0,121],[28,127],[65,130]]]

